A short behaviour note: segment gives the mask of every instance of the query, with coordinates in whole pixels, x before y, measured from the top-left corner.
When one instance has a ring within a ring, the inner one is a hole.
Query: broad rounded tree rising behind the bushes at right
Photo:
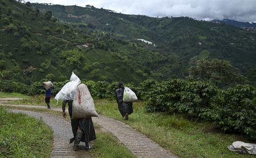
[[[190,67],[188,79],[210,82],[220,88],[247,82],[238,69],[219,59],[198,60],[197,66]]]

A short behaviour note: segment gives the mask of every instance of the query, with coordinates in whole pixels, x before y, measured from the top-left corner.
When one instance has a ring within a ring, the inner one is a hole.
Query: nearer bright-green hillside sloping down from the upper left
[[[106,33],[72,29],[56,21],[50,12],[41,13],[30,4],[4,0],[0,9],[1,79],[26,83],[43,78],[63,81],[73,70],[87,80],[139,83],[148,77],[161,77],[125,55],[166,58],[155,48],[145,49],[143,44],[113,39]],[[84,43],[89,47],[80,46]]]

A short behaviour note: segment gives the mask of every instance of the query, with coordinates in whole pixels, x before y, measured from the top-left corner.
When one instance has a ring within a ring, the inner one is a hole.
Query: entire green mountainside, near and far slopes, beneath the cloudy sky
[[[251,30],[189,17],[125,15],[89,5],[3,0],[0,13],[1,79],[60,81],[74,70],[82,79],[139,83],[185,78],[189,66],[206,58],[229,60],[255,76],[256,34]]]

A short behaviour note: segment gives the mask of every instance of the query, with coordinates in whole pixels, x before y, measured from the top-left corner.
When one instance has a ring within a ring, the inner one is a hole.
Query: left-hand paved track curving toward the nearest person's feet
[[[85,145],[80,143],[79,147],[84,147],[83,150],[73,151],[73,144],[69,144],[70,138],[73,137],[71,125],[69,122],[49,114],[40,112],[25,111],[25,110],[8,110],[15,113],[22,113],[42,120],[48,124],[53,130],[53,150],[51,157],[90,157],[88,151],[85,150]]]

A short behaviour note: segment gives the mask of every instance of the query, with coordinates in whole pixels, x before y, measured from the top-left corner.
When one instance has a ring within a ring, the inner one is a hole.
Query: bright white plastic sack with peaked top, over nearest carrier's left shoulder
[[[80,79],[72,72],[70,82],[66,83],[55,96],[56,100],[74,100],[77,86],[81,83]]]

